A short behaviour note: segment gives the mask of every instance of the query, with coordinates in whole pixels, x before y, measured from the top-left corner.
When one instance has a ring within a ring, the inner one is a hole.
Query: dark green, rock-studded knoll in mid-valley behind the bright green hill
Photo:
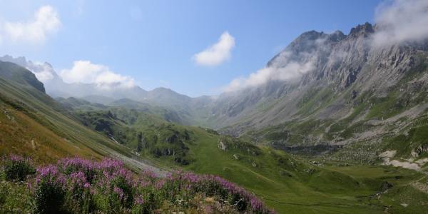
[[[127,108],[108,108],[103,111],[76,111],[75,116],[88,128],[131,148],[142,156],[168,158],[175,163],[189,163],[187,126],[168,123],[160,116]]]

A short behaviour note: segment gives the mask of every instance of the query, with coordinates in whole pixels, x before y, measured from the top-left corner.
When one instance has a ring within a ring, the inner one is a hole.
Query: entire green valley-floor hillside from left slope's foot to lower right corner
[[[412,170],[307,161],[207,128],[167,123],[138,112],[131,117],[132,113],[123,111],[110,108],[78,115],[91,121],[88,127],[95,128],[100,121],[108,124],[100,131],[106,136],[106,130],[128,134],[122,138],[126,139],[123,145],[166,168],[220,175],[243,185],[278,213],[383,213],[385,206],[418,213],[417,207],[427,198],[427,193],[413,186],[424,175]],[[143,136],[140,149],[138,133]],[[271,133],[270,137],[282,134]],[[418,196],[404,197],[406,194]]]

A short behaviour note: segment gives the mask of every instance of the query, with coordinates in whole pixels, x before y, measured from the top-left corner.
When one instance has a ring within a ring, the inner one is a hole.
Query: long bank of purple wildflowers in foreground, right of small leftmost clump
[[[216,198],[243,213],[273,213],[253,193],[219,176],[182,171],[164,178],[151,171],[136,175],[113,159],[63,158],[38,168],[29,187],[41,213],[153,213],[165,203],[188,206],[195,195]]]

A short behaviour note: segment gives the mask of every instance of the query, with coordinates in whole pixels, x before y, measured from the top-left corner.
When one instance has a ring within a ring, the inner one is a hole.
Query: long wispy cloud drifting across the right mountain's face
[[[246,78],[235,78],[228,86],[223,88],[223,91],[239,91],[248,87],[261,86],[268,81],[295,81],[315,67],[315,58],[310,58],[305,62],[297,62],[288,60],[287,57],[290,57],[290,55],[289,52],[283,52],[280,55],[282,61],[287,61],[283,66],[267,66],[255,73],[251,73]]]

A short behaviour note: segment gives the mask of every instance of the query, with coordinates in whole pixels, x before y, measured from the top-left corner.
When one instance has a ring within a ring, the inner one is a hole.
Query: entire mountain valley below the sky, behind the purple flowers
[[[427,213],[428,40],[378,46],[379,31],[307,31],[263,68],[276,78],[196,98],[66,83],[49,63],[4,56],[0,155],[39,165],[108,157],[159,178],[219,175],[277,213]],[[298,75],[281,76],[290,69]],[[0,190],[10,185],[25,187]],[[4,193],[0,207],[13,210]],[[164,210],[205,212],[192,208]]]

